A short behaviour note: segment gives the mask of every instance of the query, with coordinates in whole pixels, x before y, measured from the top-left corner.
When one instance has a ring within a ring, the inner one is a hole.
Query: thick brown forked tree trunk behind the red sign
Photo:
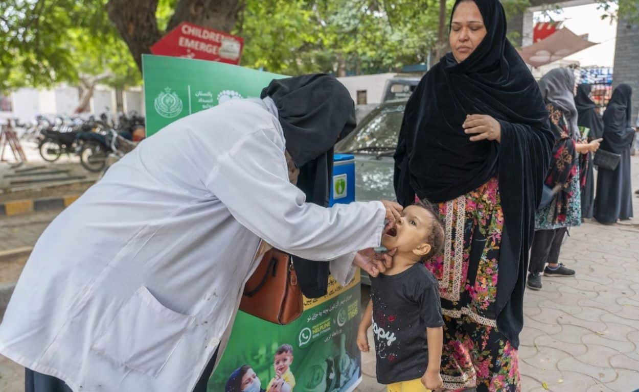
[[[180,22],[191,22],[228,33],[235,27],[239,0],[178,0],[168,30]],[[151,46],[162,38],[158,30],[155,11],[158,0],[109,0],[107,12],[127,43],[142,72],[142,54],[151,53]]]

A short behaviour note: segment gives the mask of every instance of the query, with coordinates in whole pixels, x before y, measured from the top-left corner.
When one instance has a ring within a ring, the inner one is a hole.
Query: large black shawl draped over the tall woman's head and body
[[[456,1],[453,13],[462,1]],[[408,100],[394,185],[397,200],[407,206],[415,195],[432,202],[453,200],[498,176],[505,228],[497,325],[517,347],[534,214],[554,137],[537,82],[506,38],[504,8],[498,0],[475,4],[486,37],[461,63],[452,53],[443,57]],[[462,128],[468,114],[487,114],[500,121],[501,143],[471,142]]]

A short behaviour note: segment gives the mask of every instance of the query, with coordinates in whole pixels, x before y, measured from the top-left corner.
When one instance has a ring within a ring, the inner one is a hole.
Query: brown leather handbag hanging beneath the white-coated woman
[[[302,290],[289,255],[275,249],[265,253],[244,287],[240,310],[281,325],[302,315]]]

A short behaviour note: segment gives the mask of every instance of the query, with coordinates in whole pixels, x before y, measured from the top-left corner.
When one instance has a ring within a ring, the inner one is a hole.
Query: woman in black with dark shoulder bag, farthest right
[[[617,220],[633,217],[633,191],[630,179],[630,146],[635,137],[631,127],[631,96],[633,89],[620,84],[612,93],[603,115],[604,132],[601,149],[620,154],[617,169],[599,167],[594,217],[599,223],[610,225]]]

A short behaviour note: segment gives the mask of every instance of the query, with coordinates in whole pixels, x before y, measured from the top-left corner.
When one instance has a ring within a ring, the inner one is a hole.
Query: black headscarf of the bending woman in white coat
[[[328,206],[333,147],[355,129],[355,103],[335,77],[324,74],[275,79],[262,90],[279,112],[286,150],[300,169],[297,186],[306,201]],[[328,263],[293,256],[300,288],[308,298],[327,293]]]

